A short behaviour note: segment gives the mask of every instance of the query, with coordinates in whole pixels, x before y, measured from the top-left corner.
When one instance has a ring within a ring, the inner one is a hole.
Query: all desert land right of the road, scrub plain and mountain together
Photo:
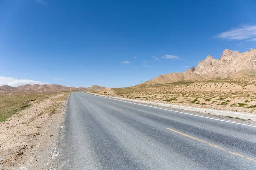
[[[256,114],[256,49],[239,53],[225,49],[183,73],[160,75],[129,88],[105,88],[95,93],[195,108]],[[254,66],[255,67],[255,66]]]

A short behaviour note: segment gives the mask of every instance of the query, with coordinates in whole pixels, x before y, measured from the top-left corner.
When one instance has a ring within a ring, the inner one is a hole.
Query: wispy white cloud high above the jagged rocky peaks
[[[226,40],[256,41],[256,25],[243,25],[238,28],[233,28],[230,31],[218,34],[216,37]]]

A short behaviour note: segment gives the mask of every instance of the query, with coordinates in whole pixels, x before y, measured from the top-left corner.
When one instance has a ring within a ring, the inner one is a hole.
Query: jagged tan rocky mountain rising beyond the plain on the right
[[[252,74],[252,63],[256,68],[256,49],[240,53],[225,49],[220,59],[207,56],[198,62],[195,68],[189,68],[183,73],[170,73],[160,75],[140,85],[167,84],[173,82],[197,82],[215,79],[236,79]]]

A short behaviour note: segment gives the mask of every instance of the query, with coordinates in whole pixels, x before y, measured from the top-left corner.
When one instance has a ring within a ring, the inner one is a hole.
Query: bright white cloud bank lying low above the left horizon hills
[[[15,79],[15,78],[12,78],[12,77],[2,77],[2,76],[0,76],[0,85],[9,85],[9,86],[12,86],[12,87],[17,87],[17,86],[26,85],[26,84],[44,85],[44,84],[49,84],[49,83],[48,82],[30,80],[30,79]]]

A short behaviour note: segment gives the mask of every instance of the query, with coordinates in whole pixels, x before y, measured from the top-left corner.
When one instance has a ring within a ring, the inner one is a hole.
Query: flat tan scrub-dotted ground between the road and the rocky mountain
[[[149,102],[256,114],[256,77],[211,82],[103,89],[97,92]]]

